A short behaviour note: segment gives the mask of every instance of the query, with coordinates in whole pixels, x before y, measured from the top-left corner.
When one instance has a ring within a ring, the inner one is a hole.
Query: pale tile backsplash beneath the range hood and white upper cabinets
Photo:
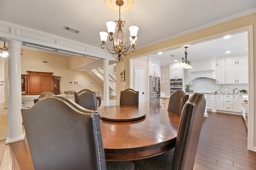
[[[190,85],[190,90],[193,90],[193,92],[205,92],[205,93],[214,93],[218,92],[220,90],[220,93],[222,93],[222,87],[223,86],[229,86],[231,88],[231,92],[233,93],[234,89],[239,90],[247,90],[248,91],[248,84],[216,84],[215,79],[211,78],[196,78],[194,79],[194,84]]]

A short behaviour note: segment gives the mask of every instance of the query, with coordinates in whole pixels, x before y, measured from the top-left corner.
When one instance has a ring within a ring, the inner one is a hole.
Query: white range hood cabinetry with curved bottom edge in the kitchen
[[[190,69],[190,78],[214,78],[215,74],[215,62],[212,59],[204,60],[204,61],[193,61],[191,66],[193,68]]]

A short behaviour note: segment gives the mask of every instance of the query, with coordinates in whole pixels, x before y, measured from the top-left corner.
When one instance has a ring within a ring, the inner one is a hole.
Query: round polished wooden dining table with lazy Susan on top
[[[106,161],[148,158],[175,147],[180,116],[144,106],[102,106],[98,111]]]

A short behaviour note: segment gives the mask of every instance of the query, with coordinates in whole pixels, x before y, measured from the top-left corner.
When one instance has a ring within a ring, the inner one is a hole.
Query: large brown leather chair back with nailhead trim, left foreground
[[[97,111],[53,96],[21,113],[36,170],[106,170]]]

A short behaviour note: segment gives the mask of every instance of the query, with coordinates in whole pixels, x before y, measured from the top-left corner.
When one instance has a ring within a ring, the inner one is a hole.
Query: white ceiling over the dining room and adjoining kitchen
[[[256,12],[256,0],[134,0],[131,10],[121,13],[128,27],[139,27],[136,48],[170,39],[180,33],[221,23],[223,18],[236,18]],[[119,14],[109,10],[104,0],[0,0],[0,20],[100,47],[100,31],[107,31],[107,21],[118,20]],[[81,32],[64,30],[67,25]],[[245,34],[245,33],[244,33]],[[129,35],[126,34],[126,37]],[[227,44],[227,42],[229,43]],[[235,43],[237,42],[237,43]],[[213,43],[213,44],[212,44]],[[223,43],[225,45],[223,45]],[[214,48],[212,48],[214,47]],[[246,53],[247,39],[242,35],[215,39],[188,47],[188,60],[194,57],[216,57]],[[184,48],[165,52],[157,58],[170,63],[176,55],[184,57]],[[154,57],[154,56],[151,56]],[[167,60],[168,59],[168,60]],[[169,60],[170,59],[170,60]]]

